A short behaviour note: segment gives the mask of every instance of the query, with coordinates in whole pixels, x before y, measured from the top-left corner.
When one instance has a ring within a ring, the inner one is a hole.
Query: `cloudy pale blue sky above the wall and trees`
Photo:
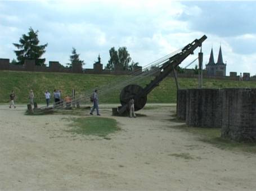
[[[195,39],[203,43],[204,67],[219,46],[230,72],[256,74],[256,1],[0,1],[0,58],[16,59],[29,27],[46,44],[42,58],[69,63],[74,47],[92,68],[98,54],[106,66],[111,47],[126,46],[134,62],[145,66]],[[199,48],[181,63],[187,66]],[[194,63],[190,68],[194,68]]]

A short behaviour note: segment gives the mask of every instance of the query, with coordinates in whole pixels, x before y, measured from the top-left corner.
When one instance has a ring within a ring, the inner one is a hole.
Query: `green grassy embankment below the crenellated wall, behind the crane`
[[[62,97],[71,96],[74,88],[77,95],[105,85],[120,83],[127,76],[111,76],[96,74],[68,74],[41,72],[0,71],[0,103],[8,103],[11,90],[17,96],[16,103],[28,103],[29,90],[34,90],[35,101],[44,103],[44,91],[52,94],[54,89],[62,90]],[[152,77],[137,82],[142,87],[150,82]],[[205,88],[251,87],[256,88],[255,81],[230,81],[204,79]],[[197,78],[179,78],[181,88],[197,88]],[[110,86],[111,87],[111,86]],[[100,96],[100,103],[119,103],[122,88]],[[91,91],[89,91],[91,94]],[[176,85],[174,78],[165,78],[147,97],[148,103],[176,103]]]

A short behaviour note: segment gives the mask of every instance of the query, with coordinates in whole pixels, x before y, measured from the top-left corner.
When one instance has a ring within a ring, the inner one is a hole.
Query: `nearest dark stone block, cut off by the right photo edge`
[[[224,89],[222,137],[256,141],[256,89]]]

